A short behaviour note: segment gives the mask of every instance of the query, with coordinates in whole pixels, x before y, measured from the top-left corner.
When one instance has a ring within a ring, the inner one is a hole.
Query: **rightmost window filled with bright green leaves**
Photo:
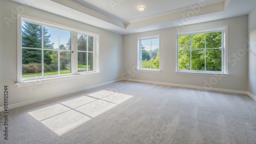
[[[177,71],[227,73],[225,28],[177,35]]]

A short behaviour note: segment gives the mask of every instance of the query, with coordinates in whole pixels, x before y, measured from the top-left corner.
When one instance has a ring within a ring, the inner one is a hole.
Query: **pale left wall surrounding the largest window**
[[[93,77],[75,78],[72,80],[37,85],[32,91],[29,87],[17,87],[17,21],[14,17],[17,9],[25,9],[22,14],[60,23],[100,35],[99,64],[100,74]],[[7,23],[5,17],[13,22]],[[34,8],[27,8],[9,0],[0,1],[0,95],[3,96],[4,86],[9,86],[9,105],[45,98],[49,95],[76,90],[121,78],[123,73],[123,36],[86,25],[68,18],[60,17]],[[0,107],[4,106],[4,98],[0,98]]]

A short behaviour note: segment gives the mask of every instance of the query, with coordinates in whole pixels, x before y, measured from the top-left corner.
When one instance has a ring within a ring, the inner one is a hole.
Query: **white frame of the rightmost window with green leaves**
[[[217,31],[222,32],[222,71],[178,69],[178,62],[179,62],[179,43],[178,43],[178,40],[179,40],[179,36],[201,34],[201,33],[210,33],[210,32],[217,32]],[[228,74],[228,26],[222,26],[222,27],[208,28],[208,29],[203,29],[203,30],[177,33],[176,34],[176,74],[228,77],[228,75],[229,75]]]

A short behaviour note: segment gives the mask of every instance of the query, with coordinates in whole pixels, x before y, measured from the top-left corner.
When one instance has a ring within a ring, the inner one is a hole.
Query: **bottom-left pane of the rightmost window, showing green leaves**
[[[190,70],[190,51],[179,51],[178,69]]]

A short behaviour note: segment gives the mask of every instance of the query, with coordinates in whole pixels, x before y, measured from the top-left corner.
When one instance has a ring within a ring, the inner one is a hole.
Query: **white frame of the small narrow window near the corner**
[[[142,68],[141,67],[141,62],[142,62],[142,54],[141,54],[141,49],[142,49],[142,44],[141,41],[142,40],[148,40],[148,39],[155,39],[155,38],[159,38],[159,69],[154,69],[154,68]],[[148,36],[148,37],[138,37],[138,49],[137,49],[137,70],[138,71],[149,71],[149,72],[157,72],[160,73],[160,69],[161,69],[161,65],[160,65],[160,35],[155,35],[155,36]]]

